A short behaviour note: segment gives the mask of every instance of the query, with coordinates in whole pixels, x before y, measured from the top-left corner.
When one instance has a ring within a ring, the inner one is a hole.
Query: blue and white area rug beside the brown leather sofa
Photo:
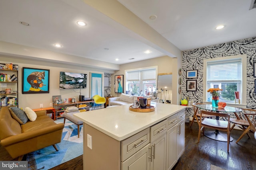
[[[55,121],[63,123],[63,119]],[[62,141],[56,144],[58,152],[49,146],[33,152],[38,169],[48,170],[83,154],[83,125],[80,125],[78,138],[77,125],[66,119]],[[44,167],[44,168],[43,168]]]

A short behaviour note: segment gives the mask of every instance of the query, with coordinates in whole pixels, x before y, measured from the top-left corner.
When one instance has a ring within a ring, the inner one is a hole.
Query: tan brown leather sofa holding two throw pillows
[[[56,124],[46,115],[46,111],[36,111],[35,121],[28,121],[20,125],[12,118],[9,108],[0,110],[0,145],[3,146],[12,158],[28,154],[38,149],[61,142],[64,123]]]

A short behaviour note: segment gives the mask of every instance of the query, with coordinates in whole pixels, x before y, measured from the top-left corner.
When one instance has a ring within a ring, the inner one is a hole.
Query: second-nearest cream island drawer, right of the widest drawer
[[[167,119],[150,127],[150,142],[158,139],[162,133],[167,131]]]

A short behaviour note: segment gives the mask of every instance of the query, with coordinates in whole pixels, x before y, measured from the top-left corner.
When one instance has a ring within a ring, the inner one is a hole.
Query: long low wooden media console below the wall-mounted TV
[[[66,107],[68,107],[68,106],[76,106],[78,109],[90,110],[90,108],[92,106],[91,103],[94,103],[94,100],[87,100],[84,102],[69,102],[69,103],[62,103],[62,104],[53,104],[53,107],[55,109],[54,120],[64,118],[63,113],[66,110]],[[79,105],[83,105],[83,104],[86,104],[87,106],[79,107]]]

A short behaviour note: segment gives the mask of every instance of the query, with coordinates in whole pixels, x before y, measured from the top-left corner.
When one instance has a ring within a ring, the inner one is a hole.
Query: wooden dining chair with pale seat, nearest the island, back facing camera
[[[216,120],[216,119],[210,119],[210,118],[204,118],[202,119],[202,114],[206,115],[212,115],[212,116],[219,116],[219,117],[226,117],[228,121],[225,120]],[[199,122],[199,132],[198,132],[198,143],[200,142],[200,136],[201,136],[201,131],[203,129],[203,134],[204,134],[204,129],[205,127],[210,128],[210,129],[215,129],[219,131],[226,131],[227,132],[227,138],[228,138],[228,146],[227,150],[229,152],[229,142],[230,142],[230,115],[227,113],[218,113],[218,112],[212,112],[212,111],[204,111],[202,110],[200,112],[200,121]]]

